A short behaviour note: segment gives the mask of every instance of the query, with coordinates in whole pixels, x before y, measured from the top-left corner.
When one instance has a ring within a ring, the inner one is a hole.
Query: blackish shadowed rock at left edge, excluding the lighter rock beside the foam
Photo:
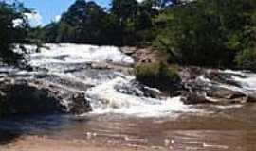
[[[26,80],[7,78],[0,83],[1,114],[46,114],[64,112],[59,98],[46,88],[30,85]]]

